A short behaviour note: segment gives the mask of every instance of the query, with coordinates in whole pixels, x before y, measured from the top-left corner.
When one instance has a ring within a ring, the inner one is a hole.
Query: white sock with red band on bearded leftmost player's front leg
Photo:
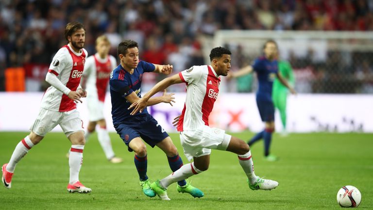
[[[83,163],[84,145],[71,145],[68,165],[70,166],[70,184],[79,181],[79,171]]]

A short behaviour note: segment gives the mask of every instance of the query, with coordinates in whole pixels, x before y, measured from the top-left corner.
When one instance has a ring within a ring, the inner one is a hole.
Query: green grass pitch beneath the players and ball
[[[0,133],[0,163],[8,162],[17,143],[28,133]],[[248,140],[254,134],[233,134]],[[84,150],[80,180],[92,188],[89,194],[68,193],[70,143],[62,133],[49,133],[17,165],[12,189],[0,188],[1,209],[340,209],[336,195],[340,187],[353,185],[362,193],[359,209],[373,208],[372,134],[290,134],[273,137],[277,162],[263,159],[262,141],[252,147],[255,173],[278,181],[272,191],[251,191],[237,156],[213,150],[210,168],[190,178],[205,196],[193,198],[168,189],[171,201],[146,197],[138,185],[134,153],[115,133],[110,134],[120,164],[109,163],[96,135]],[[178,134],[171,134],[181,157]],[[159,148],[148,146],[148,176],[156,180],[170,174],[167,158]]]

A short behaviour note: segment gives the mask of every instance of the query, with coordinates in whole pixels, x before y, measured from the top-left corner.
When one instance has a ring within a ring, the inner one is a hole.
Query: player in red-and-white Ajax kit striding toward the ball
[[[208,126],[214,103],[219,94],[220,76],[227,76],[231,68],[231,52],[217,47],[211,50],[210,65],[193,66],[179,74],[157,83],[140,100],[133,103],[131,115],[144,113],[146,106],[151,105],[151,97],[173,84],[186,83],[186,101],[179,118],[177,130],[184,154],[190,161],[169,176],[151,184],[152,189],[163,200],[170,200],[167,188],[170,184],[206,171],[210,164],[211,149],[226,150],[238,155],[238,162],[247,175],[247,182],[252,190],[271,190],[278,182],[263,179],[254,173],[254,163],[249,145],[224,130]]]

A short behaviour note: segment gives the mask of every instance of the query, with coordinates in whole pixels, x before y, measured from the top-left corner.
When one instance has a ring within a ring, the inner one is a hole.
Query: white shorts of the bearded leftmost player
[[[45,108],[40,108],[39,115],[30,130],[39,136],[45,136],[58,124],[67,137],[77,131],[84,131],[83,121],[80,119],[77,109],[59,112]]]

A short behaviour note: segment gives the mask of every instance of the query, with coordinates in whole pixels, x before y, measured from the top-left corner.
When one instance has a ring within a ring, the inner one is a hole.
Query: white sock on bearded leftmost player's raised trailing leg
[[[19,141],[13,151],[12,157],[10,157],[9,163],[6,166],[6,170],[10,173],[14,173],[17,162],[19,162],[19,160],[21,160],[21,158],[24,157],[33,146],[34,144],[33,142],[31,142],[29,136]]]

